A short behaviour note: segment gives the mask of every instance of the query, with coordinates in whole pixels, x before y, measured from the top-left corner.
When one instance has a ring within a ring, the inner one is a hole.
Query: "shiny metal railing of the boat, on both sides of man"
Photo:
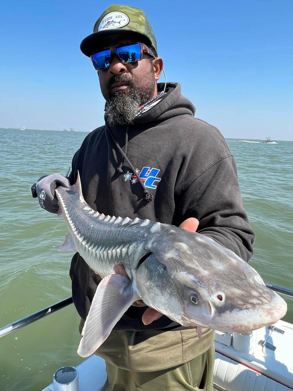
[[[266,287],[272,289],[275,292],[282,293],[284,295],[293,297],[293,290],[280,287],[279,285],[273,285],[266,283]],[[55,303],[53,305],[50,305],[49,307],[43,308],[40,311],[34,312],[34,314],[31,314],[29,316],[26,316],[22,319],[19,319],[13,323],[10,323],[7,326],[4,326],[0,328],[0,338],[4,337],[5,335],[8,335],[10,333],[13,333],[16,330],[19,330],[22,327],[25,327],[27,325],[30,325],[31,323],[34,323],[35,321],[42,319],[45,316],[48,316],[50,314],[53,314],[54,312],[61,310],[64,307],[67,307],[73,303],[72,297],[68,297],[64,300],[58,301],[58,303]]]

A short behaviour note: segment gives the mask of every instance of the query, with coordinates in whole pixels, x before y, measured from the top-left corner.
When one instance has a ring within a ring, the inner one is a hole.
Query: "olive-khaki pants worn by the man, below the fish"
[[[113,330],[95,352],[106,362],[103,391],[213,391],[214,332],[202,334]]]

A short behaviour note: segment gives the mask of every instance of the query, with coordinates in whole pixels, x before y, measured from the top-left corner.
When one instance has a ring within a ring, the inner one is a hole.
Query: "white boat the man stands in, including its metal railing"
[[[293,297],[291,289],[266,285]],[[11,323],[0,329],[0,338],[71,303],[67,298]],[[215,350],[214,391],[293,390],[292,323],[279,320],[244,334],[216,331]],[[102,391],[106,378],[104,360],[92,355],[76,368],[57,369],[53,383],[43,391]]]

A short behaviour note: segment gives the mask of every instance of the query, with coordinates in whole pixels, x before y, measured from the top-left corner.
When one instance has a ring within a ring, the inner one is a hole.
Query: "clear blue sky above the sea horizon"
[[[0,127],[89,131],[104,123],[98,77],[79,45],[110,4],[2,2]],[[227,138],[293,140],[292,0],[118,4],[145,11],[167,79],[181,84],[196,117]]]

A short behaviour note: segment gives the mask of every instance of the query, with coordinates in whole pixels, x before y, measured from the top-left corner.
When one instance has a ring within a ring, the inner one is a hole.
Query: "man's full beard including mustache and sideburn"
[[[128,84],[128,88],[111,93],[111,85],[114,82],[125,82]],[[107,82],[107,86],[101,87],[101,90],[107,102],[105,120],[109,126],[132,124],[139,107],[154,95],[154,68],[150,66],[150,72],[144,75],[142,81],[135,81],[130,74],[113,76]]]

